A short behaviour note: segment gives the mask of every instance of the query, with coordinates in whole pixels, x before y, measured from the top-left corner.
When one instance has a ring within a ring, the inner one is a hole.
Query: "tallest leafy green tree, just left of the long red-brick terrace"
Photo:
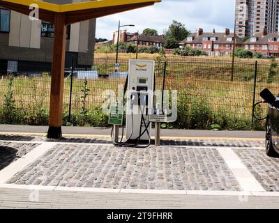
[[[175,20],[169,25],[169,29],[165,32],[165,38],[174,38],[178,42],[184,40],[190,35],[190,31],[186,29],[185,24],[181,24]]]

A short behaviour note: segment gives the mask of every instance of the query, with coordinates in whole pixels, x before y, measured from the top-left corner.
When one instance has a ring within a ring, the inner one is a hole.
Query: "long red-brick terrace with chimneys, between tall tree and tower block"
[[[215,29],[211,33],[204,33],[203,29],[199,28],[196,33],[181,41],[180,45],[204,50],[209,56],[228,56],[232,54],[234,33],[230,33],[229,29],[225,29],[224,33],[216,33]],[[236,36],[236,47],[243,47],[239,36]]]

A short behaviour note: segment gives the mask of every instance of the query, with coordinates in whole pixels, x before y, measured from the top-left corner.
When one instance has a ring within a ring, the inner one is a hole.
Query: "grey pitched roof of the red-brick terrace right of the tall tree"
[[[202,35],[197,36],[197,33],[190,34],[189,37],[193,37],[192,41],[187,41],[187,38],[181,41],[180,44],[186,44],[186,43],[202,43],[204,40],[203,38],[213,38],[216,37],[217,40],[214,41],[215,44],[233,44],[232,41],[227,41],[227,38],[233,38],[234,33],[229,33],[229,35],[225,36],[225,33],[202,33]],[[243,41],[239,36],[236,36],[236,44],[241,45],[243,44]]]

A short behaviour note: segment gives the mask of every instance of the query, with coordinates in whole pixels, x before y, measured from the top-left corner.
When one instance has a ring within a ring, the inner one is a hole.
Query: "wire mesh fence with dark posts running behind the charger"
[[[33,70],[32,63],[24,63],[24,70],[5,70],[4,63],[0,59],[1,123],[47,124],[50,65],[45,64],[41,71]],[[107,98],[103,92],[117,93],[128,76],[128,59],[119,60],[119,64],[116,71],[115,60],[104,58],[95,59],[91,68],[74,65],[65,70],[64,124],[71,121],[75,125],[105,125],[107,119],[101,106]],[[158,56],[156,89],[163,89],[164,73],[165,89],[177,90],[179,99],[178,120],[168,124],[169,128],[210,129],[211,125],[220,125],[227,129],[249,129],[253,101],[260,100],[259,92],[265,88],[279,92],[277,61],[236,61],[232,73],[229,59]],[[7,109],[17,111],[20,118],[7,116]],[[259,107],[256,112],[264,116],[266,107]]]

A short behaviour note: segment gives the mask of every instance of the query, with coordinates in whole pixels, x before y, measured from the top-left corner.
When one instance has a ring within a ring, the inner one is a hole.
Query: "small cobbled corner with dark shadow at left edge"
[[[33,148],[39,145],[0,142],[0,170],[31,152]]]

